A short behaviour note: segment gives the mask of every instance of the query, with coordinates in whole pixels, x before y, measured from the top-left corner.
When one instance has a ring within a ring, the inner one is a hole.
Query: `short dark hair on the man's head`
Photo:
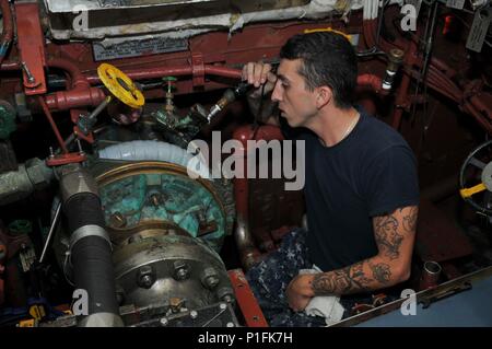
[[[302,59],[298,73],[309,91],[323,85],[333,91],[340,108],[352,105],[358,79],[358,61],[350,42],[332,32],[316,32],[292,36],[280,50],[280,58]]]

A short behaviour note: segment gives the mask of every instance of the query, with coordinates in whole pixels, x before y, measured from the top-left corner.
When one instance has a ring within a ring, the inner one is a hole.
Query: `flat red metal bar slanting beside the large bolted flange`
[[[246,326],[248,327],[268,327],[263,313],[256,301],[255,295],[249,288],[248,281],[243,270],[229,270],[229,278],[236,295],[237,304],[243,313]]]

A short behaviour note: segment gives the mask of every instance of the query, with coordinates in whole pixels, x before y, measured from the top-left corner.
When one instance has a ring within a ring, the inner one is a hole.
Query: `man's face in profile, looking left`
[[[317,114],[316,89],[309,92],[304,78],[298,73],[302,59],[282,59],[277,70],[278,80],[271,98],[279,102],[281,116],[291,127],[306,126],[307,121]]]

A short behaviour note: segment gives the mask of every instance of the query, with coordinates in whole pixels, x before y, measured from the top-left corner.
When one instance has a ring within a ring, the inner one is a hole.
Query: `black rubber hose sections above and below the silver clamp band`
[[[85,225],[104,228],[99,198],[92,193],[80,193],[70,197],[65,203],[65,212],[70,235]],[[75,288],[87,291],[89,314],[119,314],[108,241],[96,235],[77,241],[71,246],[71,264]]]

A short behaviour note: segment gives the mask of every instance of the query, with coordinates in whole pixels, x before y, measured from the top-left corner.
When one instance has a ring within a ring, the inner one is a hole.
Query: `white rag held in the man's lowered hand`
[[[323,272],[317,266],[313,269],[301,269],[298,274],[317,274]],[[304,310],[309,316],[325,317],[327,326],[338,323],[343,316],[343,305],[340,304],[338,295],[317,295],[314,296]]]

